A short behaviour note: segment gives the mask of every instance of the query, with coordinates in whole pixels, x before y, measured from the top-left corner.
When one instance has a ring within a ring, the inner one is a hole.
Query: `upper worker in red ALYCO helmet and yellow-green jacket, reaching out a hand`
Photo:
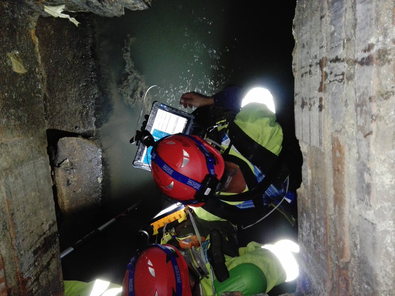
[[[282,146],[274,110],[256,102],[241,108],[242,92],[233,86],[213,97],[182,95],[184,107],[198,107],[193,135],[157,141],[151,169],[160,191],[189,204],[199,218],[245,228],[274,208],[286,214],[283,201],[292,202],[300,182],[290,178],[293,152]]]

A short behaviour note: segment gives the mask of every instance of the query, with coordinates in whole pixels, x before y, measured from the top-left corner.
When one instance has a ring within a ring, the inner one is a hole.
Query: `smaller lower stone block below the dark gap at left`
[[[53,157],[61,250],[104,221],[102,149],[94,139],[63,137]]]

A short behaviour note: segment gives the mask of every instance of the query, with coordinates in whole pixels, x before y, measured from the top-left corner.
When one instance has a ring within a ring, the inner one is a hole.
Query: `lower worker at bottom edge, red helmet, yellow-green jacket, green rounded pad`
[[[298,246],[284,240],[274,245],[250,242],[234,252],[219,230],[213,230],[198,249],[180,251],[169,244],[147,245],[128,264],[122,296],[221,296],[223,292],[248,296],[269,292],[297,276],[291,251],[299,251]]]

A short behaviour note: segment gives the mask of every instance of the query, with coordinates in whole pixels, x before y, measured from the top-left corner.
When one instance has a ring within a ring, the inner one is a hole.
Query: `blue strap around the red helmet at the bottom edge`
[[[177,255],[177,253],[167,249],[167,247],[165,247],[163,245],[149,245],[148,247],[137,251],[137,254],[130,260],[130,263],[128,264],[128,270],[129,270],[128,295],[135,296],[135,294],[134,294],[134,291],[135,291],[134,272],[136,269],[137,260],[139,259],[141,253],[149,247],[159,247],[166,253],[166,263],[171,261],[171,265],[173,266],[173,271],[174,271],[174,276],[175,276],[175,296],[182,296],[181,272],[180,272],[180,268],[178,266],[177,259],[176,259],[178,257],[178,255]],[[164,276],[166,276],[166,275],[164,275]]]

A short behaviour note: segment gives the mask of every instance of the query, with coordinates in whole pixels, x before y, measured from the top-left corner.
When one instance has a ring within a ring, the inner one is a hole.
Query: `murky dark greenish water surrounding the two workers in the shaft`
[[[144,11],[126,10],[118,18],[95,17],[98,59],[108,70],[108,76],[101,79],[114,104],[109,122],[96,133],[103,144],[105,173],[111,187],[106,215],[121,212],[139,198],[154,205],[121,219],[111,230],[62,260],[64,279],[91,281],[100,277],[120,284],[134,251],[136,231],[163,201],[151,174],[132,167],[136,148],[128,141],[142,100],[140,91],[134,94],[131,89],[119,89],[130,78],[124,53],[130,49],[131,60],[127,62],[134,73],[130,81],[137,85],[133,89],[163,85],[169,91],[155,90],[151,99],[173,107],[187,91],[212,95],[229,84],[269,89],[275,99],[277,120],[284,135],[293,141],[295,4],[169,0],[155,1]],[[125,44],[126,51],[122,52]],[[280,238],[295,241],[297,232],[282,215],[272,214],[245,232],[242,239],[265,243]],[[271,295],[280,292],[274,290]]]

